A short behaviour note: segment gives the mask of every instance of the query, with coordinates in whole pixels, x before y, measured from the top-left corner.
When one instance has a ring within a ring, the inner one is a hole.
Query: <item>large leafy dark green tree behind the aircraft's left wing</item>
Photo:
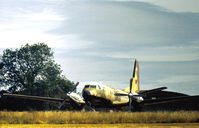
[[[61,75],[52,49],[44,43],[26,44],[20,49],[6,49],[2,55],[0,86],[11,93],[38,96],[61,96],[56,85],[70,90],[73,82]]]

